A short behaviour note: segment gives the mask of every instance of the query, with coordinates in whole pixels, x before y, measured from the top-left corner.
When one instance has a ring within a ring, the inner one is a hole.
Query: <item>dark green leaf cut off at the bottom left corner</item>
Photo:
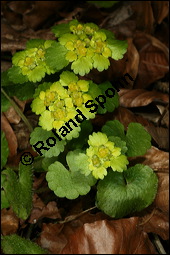
[[[16,234],[3,236],[2,249],[5,254],[48,254],[36,243]]]

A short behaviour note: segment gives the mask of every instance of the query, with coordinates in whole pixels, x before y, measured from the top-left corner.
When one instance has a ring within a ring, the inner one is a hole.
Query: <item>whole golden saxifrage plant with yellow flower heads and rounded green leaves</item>
[[[144,155],[151,137],[139,123],[130,123],[126,132],[117,120],[94,129],[91,119],[113,112],[119,97],[109,81],[95,84],[85,77],[94,68],[107,70],[111,58],[121,59],[127,42],[77,20],[56,25],[52,31],[56,40],[28,41],[25,50],[14,54],[13,66],[5,74],[20,99],[33,98],[31,108],[39,116],[39,127],[31,133],[30,143],[40,154],[49,188],[58,197],[75,199],[96,185],[97,207],[116,218],[146,208],[155,198],[157,177],[142,164],[128,168],[128,157]],[[24,175],[22,167],[20,171]],[[23,190],[9,170],[4,175],[11,176],[4,182],[7,192],[13,183],[16,190]],[[17,209],[21,201],[8,196],[21,218],[27,218],[31,210],[28,192],[24,212]]]

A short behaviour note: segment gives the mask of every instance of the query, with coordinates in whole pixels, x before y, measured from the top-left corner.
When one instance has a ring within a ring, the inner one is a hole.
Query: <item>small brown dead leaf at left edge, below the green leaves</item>
[[[1,231],[3,235],[10,235],[17,232],[19,218],[14,214],[12,208],[1,210]]]

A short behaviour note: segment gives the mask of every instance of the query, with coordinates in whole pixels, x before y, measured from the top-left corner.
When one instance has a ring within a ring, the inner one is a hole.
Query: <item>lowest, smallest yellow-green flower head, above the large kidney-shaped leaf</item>
[[[121,148],[115,147],[114,142],[108,140],[106,134],[98,132],[89,136],[89,148],[86,150],[89,169],[96,179],[103,179],[107,175],[107,168],[122,172],[129,163],[127,157],[121,154]]]

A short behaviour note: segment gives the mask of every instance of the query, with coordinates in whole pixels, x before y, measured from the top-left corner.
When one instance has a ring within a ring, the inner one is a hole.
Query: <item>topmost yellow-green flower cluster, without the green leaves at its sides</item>
[[[106,34],[93,23],[70,23],[70,33],[59,37],[60,44],[68,50],[66,59],[72,62],[71,68],[84,75],[93,67],[98,71],[108,69],[112,51],[107,45]]]

